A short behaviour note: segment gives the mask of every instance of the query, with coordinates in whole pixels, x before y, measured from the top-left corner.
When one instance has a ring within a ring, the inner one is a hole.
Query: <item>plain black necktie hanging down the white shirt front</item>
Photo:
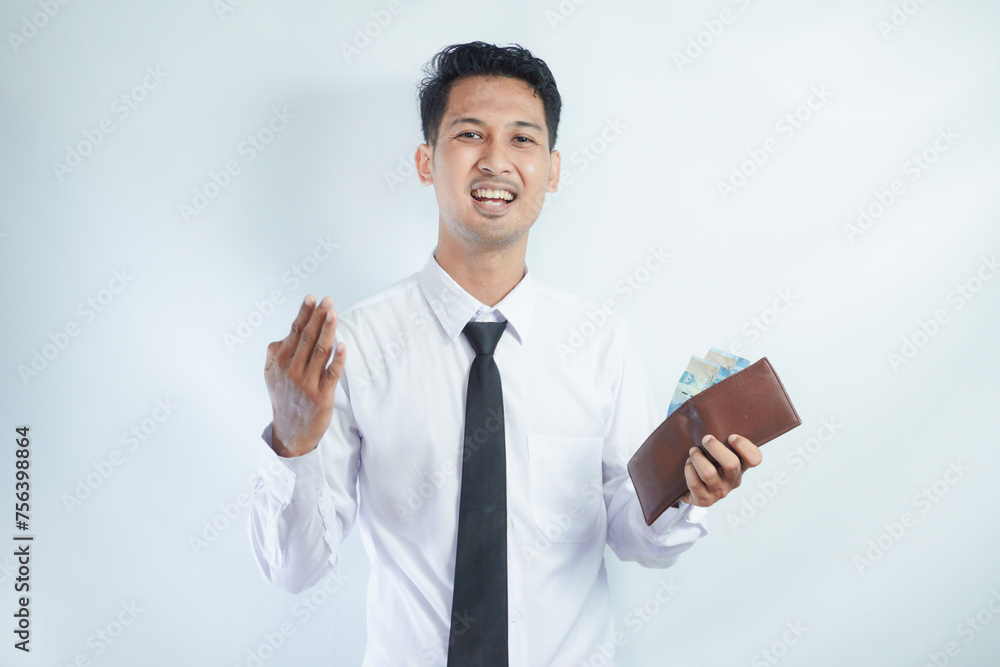
[[[507,665],[507,457],[493,351],[507,322],[469,322],[476,357],[465,406],[449,667]]]

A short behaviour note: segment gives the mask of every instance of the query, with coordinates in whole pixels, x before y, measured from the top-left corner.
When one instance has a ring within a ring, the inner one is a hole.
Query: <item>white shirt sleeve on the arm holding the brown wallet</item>
[[[707,534],[707,509],[687,503],[669,508],[647,526],[628,461],[659,417],[639,347],[625,320],[619,318],[611,368],[614,407],[604,447],[604,502],[608,514],[608,545],[622,560],[646,567],[669,567]]]

